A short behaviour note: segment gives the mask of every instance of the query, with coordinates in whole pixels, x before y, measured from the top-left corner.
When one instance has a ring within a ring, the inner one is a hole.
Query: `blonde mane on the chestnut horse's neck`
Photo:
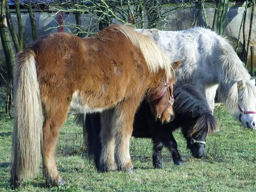
[[[140,49],[148,68],[151,72],[158,72],[159,68],[166,71],[168,78],[172,77],[173,64],[167,55],[154,43],[150,36],[143,35],[135,31],[133,27],[126,25],[112,25],[112,29],[123,33],[136,49]]]

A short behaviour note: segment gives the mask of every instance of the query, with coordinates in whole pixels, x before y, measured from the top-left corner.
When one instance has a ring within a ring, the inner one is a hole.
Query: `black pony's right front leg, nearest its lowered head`
[[[176,140],[173,137],[173,134],[169,135],[169,141],[165,142],[165,146],[168,147],[168,149],[172,153],[172,159],[175,165],[183,165],[183,161],[181,160],[181,156],[178,152],[178,145]]]

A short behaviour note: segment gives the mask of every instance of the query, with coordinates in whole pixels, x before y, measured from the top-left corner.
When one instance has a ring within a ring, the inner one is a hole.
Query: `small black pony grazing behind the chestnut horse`
[[[216,119],[213,117],[208,107],[207,101],[199,91],[191,85],[173,85],[175,119],[172,122],[161,124],[155,121],[149,104],[146,101],[141,103],[134,120],[134,137],[152,138],[153,166],[162,168],[160,161],[163,146],[168,147],[172,153],[175,165],[182,165],[181,156],[177,149],[172,132],[181,127],[182,133],[187,140],[187,147],[195,158],[201,158],[205,153],[206,137],[208,133],[218,130]],[[83,118],[78,117],[78,121]],[[94,162],[99,168],[101,154],[100,114],[90,114],[86,116],[85,129],[88,133],[87,147],[88,153],[94,156]]]

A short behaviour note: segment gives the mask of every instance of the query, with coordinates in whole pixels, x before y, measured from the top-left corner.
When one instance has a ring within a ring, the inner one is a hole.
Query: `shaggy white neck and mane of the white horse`
[[[231,113],[238,111],[237,82],[244,80],[250,81],[250,75],[244,67],[243,62],[239,59],[232,46],[224,40],[220,45],[223,51],[220,56],[222,65],[222,76],[219,82],[219,98],[226,104]]]

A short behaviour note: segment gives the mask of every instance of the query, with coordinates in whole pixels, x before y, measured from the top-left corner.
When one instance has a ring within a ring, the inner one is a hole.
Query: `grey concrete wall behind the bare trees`
[[[170,9],[169,6],[164,7],[163,12],[167,11]],[[215,8],[206,8],[205,9],[206,14],[207,14],[207,19],[209,26],[212,26],[213,22],[213,16],[215,12]],[[227,17],[228,20],[226,22],[226,28],[224,32],[224,36],[230,36],[233,38],[229,38],[231,43],[234,39],[235,42],[237,42],[238,38],[238,32],[239,32],[239,27],[241,25],[241,20],[242,20],[242,15],[243,15],[244,7],[230,7]],[[52,13],[53,14],[53,13]],[[249,22],[250,22],[250,15],[251,15],[251,7],[247,11],[246,15],[246,30],[249,31]],[[50,34],[54,32],[58,32],[58,26],[57,24],[57,15],[54,17],[49,17],[50,13],[36,13],[35,15],[36,18],[36,26],[37,26],[37,34],[38,36],[42,36],[45,34]],[[180,10],[175,10],[172,12],[172,14],[169,14],[167,17],[168,24],[165,25],[164,30],[183,30],[186,28],[191,28],[193,26],[194,20],[197,16],[197,9],[196,8],[187,8],[187,9],[180,9]],[[23,39],[24,39],[24,44],[29,45],[32,43],[32,36],[31,36],[31,25],[30,25],[30,19],[27,13],[22,13],[21,14],[22,20],[23,20]],[[84,26],[83,30],[86,30],[87,27],[89,26],[90,23],[90,15],[88,14],[82,14],[81,15],[81,22],[82,25]],[[12,20],[14,23],[14,26],[16,30],[18,31],[18,25],[17,25],[17,19],[16,15],[12,14]],[[63,27],[64,32],[73,32],[75,31],[75,28],[72,26],[75,25],[76,20],[75,20],[75,14],[63,14],[63,20],[66,26]],[[117,21],[113,20],[114,22],[118,23]],[[98,31],[98,25],[94,24],[94,30],[93,32]],[[205,26],[205,21],[203,15],[200,15],[199,18],[199,23],[200,26]],[[252,25],[252,41],[256,42],[256,19],[254,17],[254,23]],[[85,34],[84,34],[85,35]],[[248,32],[246,34],[248,36]],[[240,41],[242,41],[242,33],[241,33],[241,38]],[[25,47],[24,46],[24,47]],[[5,57],[4,57],[4,52],[2,50],[2,44],[0,44],[0,64],[5,68],[4,63],[5,63]],[[1,81],[1,79],[0,79]]]

